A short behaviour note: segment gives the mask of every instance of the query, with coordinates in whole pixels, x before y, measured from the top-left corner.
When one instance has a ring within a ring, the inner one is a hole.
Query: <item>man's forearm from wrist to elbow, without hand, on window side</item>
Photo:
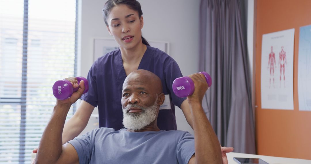
[[[70,106],[57,104],[39,143],[38,163],[55,163],[62,153],[62,133]]]

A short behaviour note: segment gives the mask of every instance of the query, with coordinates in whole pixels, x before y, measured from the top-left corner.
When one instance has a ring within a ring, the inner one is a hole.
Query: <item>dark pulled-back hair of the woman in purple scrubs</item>
[[[140,7],[140,3],[136,0],[108,0],[103,8],[104,21],[107,26],[108,26],[107,17],[109,16],[110,11],[115,6],[121,4],[126,5],[128,6],[128,8],[137,11],[139,18],[142,16],[142,8]],[[150,46],[144,37],[142,37],[142,43]]]

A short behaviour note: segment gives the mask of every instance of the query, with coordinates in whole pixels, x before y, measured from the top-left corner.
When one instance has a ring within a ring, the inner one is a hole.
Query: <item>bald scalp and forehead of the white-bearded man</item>
[[[162,93],[161,79],[154,73],[147,70],[136,70],[131,72],[124,80],[123,88],[133,82],[141,82],[146,86],[153,87],[157,94]]]

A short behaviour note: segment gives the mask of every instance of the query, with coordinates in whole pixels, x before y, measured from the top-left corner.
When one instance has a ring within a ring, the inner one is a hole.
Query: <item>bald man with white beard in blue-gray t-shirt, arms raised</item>
[[[66,100],[57,100],[42,135],[36,163],[222,163],[226,152],[220,144],[202,108],[208,88],[202,74],[189,76],[195,84],[188,96],[193,117],[194,136],[180,130],[160,130],[159,107],[165,95],[161,80],[146,70],[130,73],[123,83],[123,125],[126,129],[98,128],[62,145],[67,113],[84,90],[80,88]],[[109,102],[107,102],[109,103]],[[121,109],[120,109],[121,110]],[[222,159],[223,157],[223,159]]]

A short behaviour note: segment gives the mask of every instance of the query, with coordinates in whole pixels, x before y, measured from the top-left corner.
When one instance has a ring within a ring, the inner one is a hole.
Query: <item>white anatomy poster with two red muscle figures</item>
[[[261,107],[294,110],[295,29],[262,35]]]

